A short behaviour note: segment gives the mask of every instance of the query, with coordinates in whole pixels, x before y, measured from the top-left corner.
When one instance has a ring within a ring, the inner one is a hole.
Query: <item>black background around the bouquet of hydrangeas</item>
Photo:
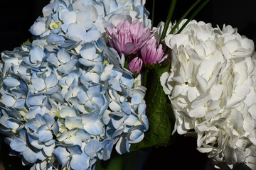
[[[13,0],[0,2],[0,52],[13,50],[31,37],[28,29],[36,18],[40,16],[43,6],[48,0]],[[146,1],[146,8],[151,12],[152,0]],[[159,21],[165,21],[171,1],[156,1],[154,26]],[[177,1],[173,18],[178,20],[189,6],[191,0]],[[238,33],[246,35],[256,42],[256,1],[255,0],[211,0],[196,16],[197,21],[217,24],[223,23],[238,28]],[[151,16],[149,16],[151,18]],[[172,21],[174,21],[174,19]],[[143,155],[149,154],[144,169],[210,169],[205,154],[196,150],[196,138],[175,135],[177,138],[169,147],[145,149]],[[3,140],[1,140],[3,141]],[[3,142],[2,142],[3,143]],[[6,169],[21,169],[21,161],[16,157],[9,157],[9,147],[1,147],[0,159],[9,164]],[[12,168],[10,167],[12,166]],[[177,168],[178,167],[178,168]],[[22,169],[28,169],[24,167]],[[1,165],[0,165],[0,170]]]

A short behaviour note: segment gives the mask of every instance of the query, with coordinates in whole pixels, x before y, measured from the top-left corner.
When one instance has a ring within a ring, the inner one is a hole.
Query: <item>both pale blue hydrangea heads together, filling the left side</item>
[[[38,39],[1,53],[0,129],[23,164],[93,169],[143,139],[146,89],[103,38],[122,18],[149,24],[140,3],[51,1],[31,27]]]

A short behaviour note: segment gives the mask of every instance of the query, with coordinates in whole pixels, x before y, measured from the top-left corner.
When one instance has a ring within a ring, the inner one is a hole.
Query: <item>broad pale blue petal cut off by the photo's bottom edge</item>
[[[89,157],[86,157],[85,155],[82,154],[74,154],[70,166],[74,170],[86,170],[89,165],[87,164]]]

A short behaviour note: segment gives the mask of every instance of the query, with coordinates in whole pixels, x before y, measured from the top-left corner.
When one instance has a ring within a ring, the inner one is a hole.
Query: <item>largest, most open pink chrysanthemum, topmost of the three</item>
[[[134,21],[119,22],[116,27],[107,27],[111,47],[124,55],[136,55],[137,52],[154,36],[154,30],[144,28],[143,23]]]

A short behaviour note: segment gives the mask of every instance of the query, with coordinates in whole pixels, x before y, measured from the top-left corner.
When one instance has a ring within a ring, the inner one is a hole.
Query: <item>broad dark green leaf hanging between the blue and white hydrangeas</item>
[[[169,144],[171,137],[171,122],[167,111],[168,98],[160,83],[161,74],[168,72],[169,67],[151,70],[147,78],[146,90],[146,115],[149,118],[149,130],[145,132],[142,142],[133,148],[159,147]]]

